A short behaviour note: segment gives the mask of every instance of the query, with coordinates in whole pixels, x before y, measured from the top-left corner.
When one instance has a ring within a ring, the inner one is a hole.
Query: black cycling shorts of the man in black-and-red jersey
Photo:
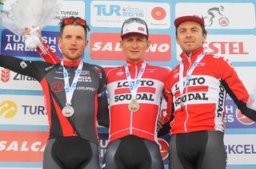
[[[80,137],[48,140],[43,169],[100,169],[98,145]]]

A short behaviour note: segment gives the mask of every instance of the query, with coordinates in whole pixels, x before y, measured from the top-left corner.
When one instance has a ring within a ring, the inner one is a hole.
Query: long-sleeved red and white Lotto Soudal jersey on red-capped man
[[[202,47],[192,52],[190,57],[186,53],[181,54],[183,77],[187,76],[201,53]],[[256,119],[255,111],[246,107],[250,99],[246,88],[230,61],[224,57],[205,54],[185,84],[182,95],[179,89],[179,69],[179,65],[172,69],[165,85],[165,97],[170,105],[167,114],[174,113],[174,120],[170,123],[172,134],[214,130],[223,132],[226,93],[244,115]]]

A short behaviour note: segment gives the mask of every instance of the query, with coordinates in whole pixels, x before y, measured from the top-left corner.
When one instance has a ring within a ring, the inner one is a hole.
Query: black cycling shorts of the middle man
[[[102,169],[163,169],[158,143],[138,136],[114,140],[106,147]]]

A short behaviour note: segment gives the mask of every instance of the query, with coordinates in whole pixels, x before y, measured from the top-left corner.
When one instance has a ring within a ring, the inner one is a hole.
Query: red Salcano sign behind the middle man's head
[[[119,33],[92,33],[90,35],[90,57],[99,61],[123,61],[126,57],[122,52]],[[170,61],[170,36],[150,35],[146,61]]]

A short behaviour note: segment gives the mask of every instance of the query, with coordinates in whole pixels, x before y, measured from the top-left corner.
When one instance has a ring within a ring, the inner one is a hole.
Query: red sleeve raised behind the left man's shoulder
[[[46,43],[42,43],[44,49],[46,49],[46,53],[42,53],[42,50],[40,48],[37,48],[38,53],[40,54],[40,56],[47,62],[47,63],[51,63],[51,64],[58,64],[60,63],[62,60],[57,57],[57,55],[55,55],[55,53],[49,48],[48,45],[46,45]]]

